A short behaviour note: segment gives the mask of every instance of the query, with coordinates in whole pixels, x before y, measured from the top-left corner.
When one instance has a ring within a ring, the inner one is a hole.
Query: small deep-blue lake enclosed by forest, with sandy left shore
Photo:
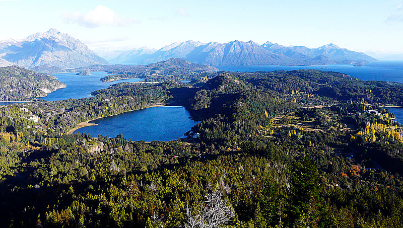
[[[115,137],[121,133],[133,141],[171,141],[184,137],[184,133],[198,123],[189,117],[184,107],[151,107],[96,119],[91,123],[98,125],[83,127],[74,133],[89,133],[92,137],[100,134]]]

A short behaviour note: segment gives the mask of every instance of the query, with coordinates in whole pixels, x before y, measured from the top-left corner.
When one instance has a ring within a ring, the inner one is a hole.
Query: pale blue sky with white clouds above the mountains
[[[95,52],[161,48],[176,41],[328,43],[403,60],[403,0],[0,0],[0,40],[50,28]]]

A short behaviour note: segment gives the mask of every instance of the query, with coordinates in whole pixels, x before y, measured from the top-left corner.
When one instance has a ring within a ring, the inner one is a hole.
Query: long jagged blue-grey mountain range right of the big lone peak
[[[122,52],[111,60],[114,63],[148,64],[169,58],[183,58],[207,65],[315,65],[367,63],[376,59],[356,51],[328,44],[319,48],[284,46],[253,41],[228,43],[177,42],[159,50],[141,48]]]

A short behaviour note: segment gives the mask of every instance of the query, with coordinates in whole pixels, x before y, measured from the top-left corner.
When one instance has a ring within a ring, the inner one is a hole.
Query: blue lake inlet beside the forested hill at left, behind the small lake
[[[108,88],[110,85],[122,82],[141,82],[143,79],[125,79],[108,83],[101,82],[101,78],[109,75],[106,72],[91,72],[91,75],[76,75],[70,73],[54,73],[57,80],[66,84],[66,88],[58,89],[46,97],[40,98],[46,101],[60,101],[70,98],[80,99],[91,97],[91,93],[96,90]]]

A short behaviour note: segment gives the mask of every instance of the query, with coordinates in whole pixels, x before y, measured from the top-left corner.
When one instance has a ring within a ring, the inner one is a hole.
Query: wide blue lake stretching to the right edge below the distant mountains
[[[360,80],[387,81],[403,83],[403,61],[379,61],[365,64],[364,66],[353,65],[315,65],[315,66],[216,66],[226,71],[274,71],[274,70],[295,70],[295,69],[318,69],[323,71],[335,71],[349,74]]]

